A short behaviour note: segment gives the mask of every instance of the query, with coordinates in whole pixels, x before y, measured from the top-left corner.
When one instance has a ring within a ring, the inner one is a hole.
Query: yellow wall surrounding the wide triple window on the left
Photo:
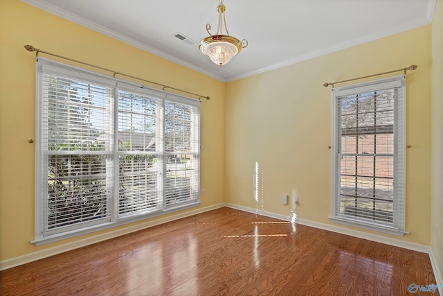
[[[201,207],[224,201],[223,82],[19,0],[0,1],[0,42],[0,261],[96,235],[41,247],[30,243],[34,144],[28,139],[35,137],[35,53],[26,51],[25,44],[210,96],[210,101],[201,103],[201,189],[205,190]]]

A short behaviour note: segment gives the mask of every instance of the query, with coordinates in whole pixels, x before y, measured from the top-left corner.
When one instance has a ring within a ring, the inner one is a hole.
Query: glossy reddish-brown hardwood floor
[[[0,295],[413,295],[413,283],[435,284],[428,254],[221,208],[3,270]]]

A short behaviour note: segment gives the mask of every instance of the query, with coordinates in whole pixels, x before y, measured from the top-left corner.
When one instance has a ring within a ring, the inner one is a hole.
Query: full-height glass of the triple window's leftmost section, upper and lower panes
[[[42,76],[47,194],[43,232],[109,218],[109,87]],[[78,154],[81,152],[82,154]]]

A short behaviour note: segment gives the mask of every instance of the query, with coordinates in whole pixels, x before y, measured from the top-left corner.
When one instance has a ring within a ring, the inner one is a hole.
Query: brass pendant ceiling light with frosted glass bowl
[[[206,24],[206,31],[208,31],[209,36],[201,40],[199,44],[200,51],[204,55],[208,55],[210,60],[220,67],[227,64],[234,55],[242,51],[246,46],[248,46],[247,40],[238,40],[237,38],[230,36],[228,33],[228,28],[226,27],[226,19],[224,17],[224,11],[226,6],[223,4],[224,0],[219,0],[219,5],[217,6],[217,11],[219,12],[219,26],[217,28],[217,33],[212,35],[210,31],[210,24]],[[224,30],[226,35],[222,33],[222,23],[223,18]]]

